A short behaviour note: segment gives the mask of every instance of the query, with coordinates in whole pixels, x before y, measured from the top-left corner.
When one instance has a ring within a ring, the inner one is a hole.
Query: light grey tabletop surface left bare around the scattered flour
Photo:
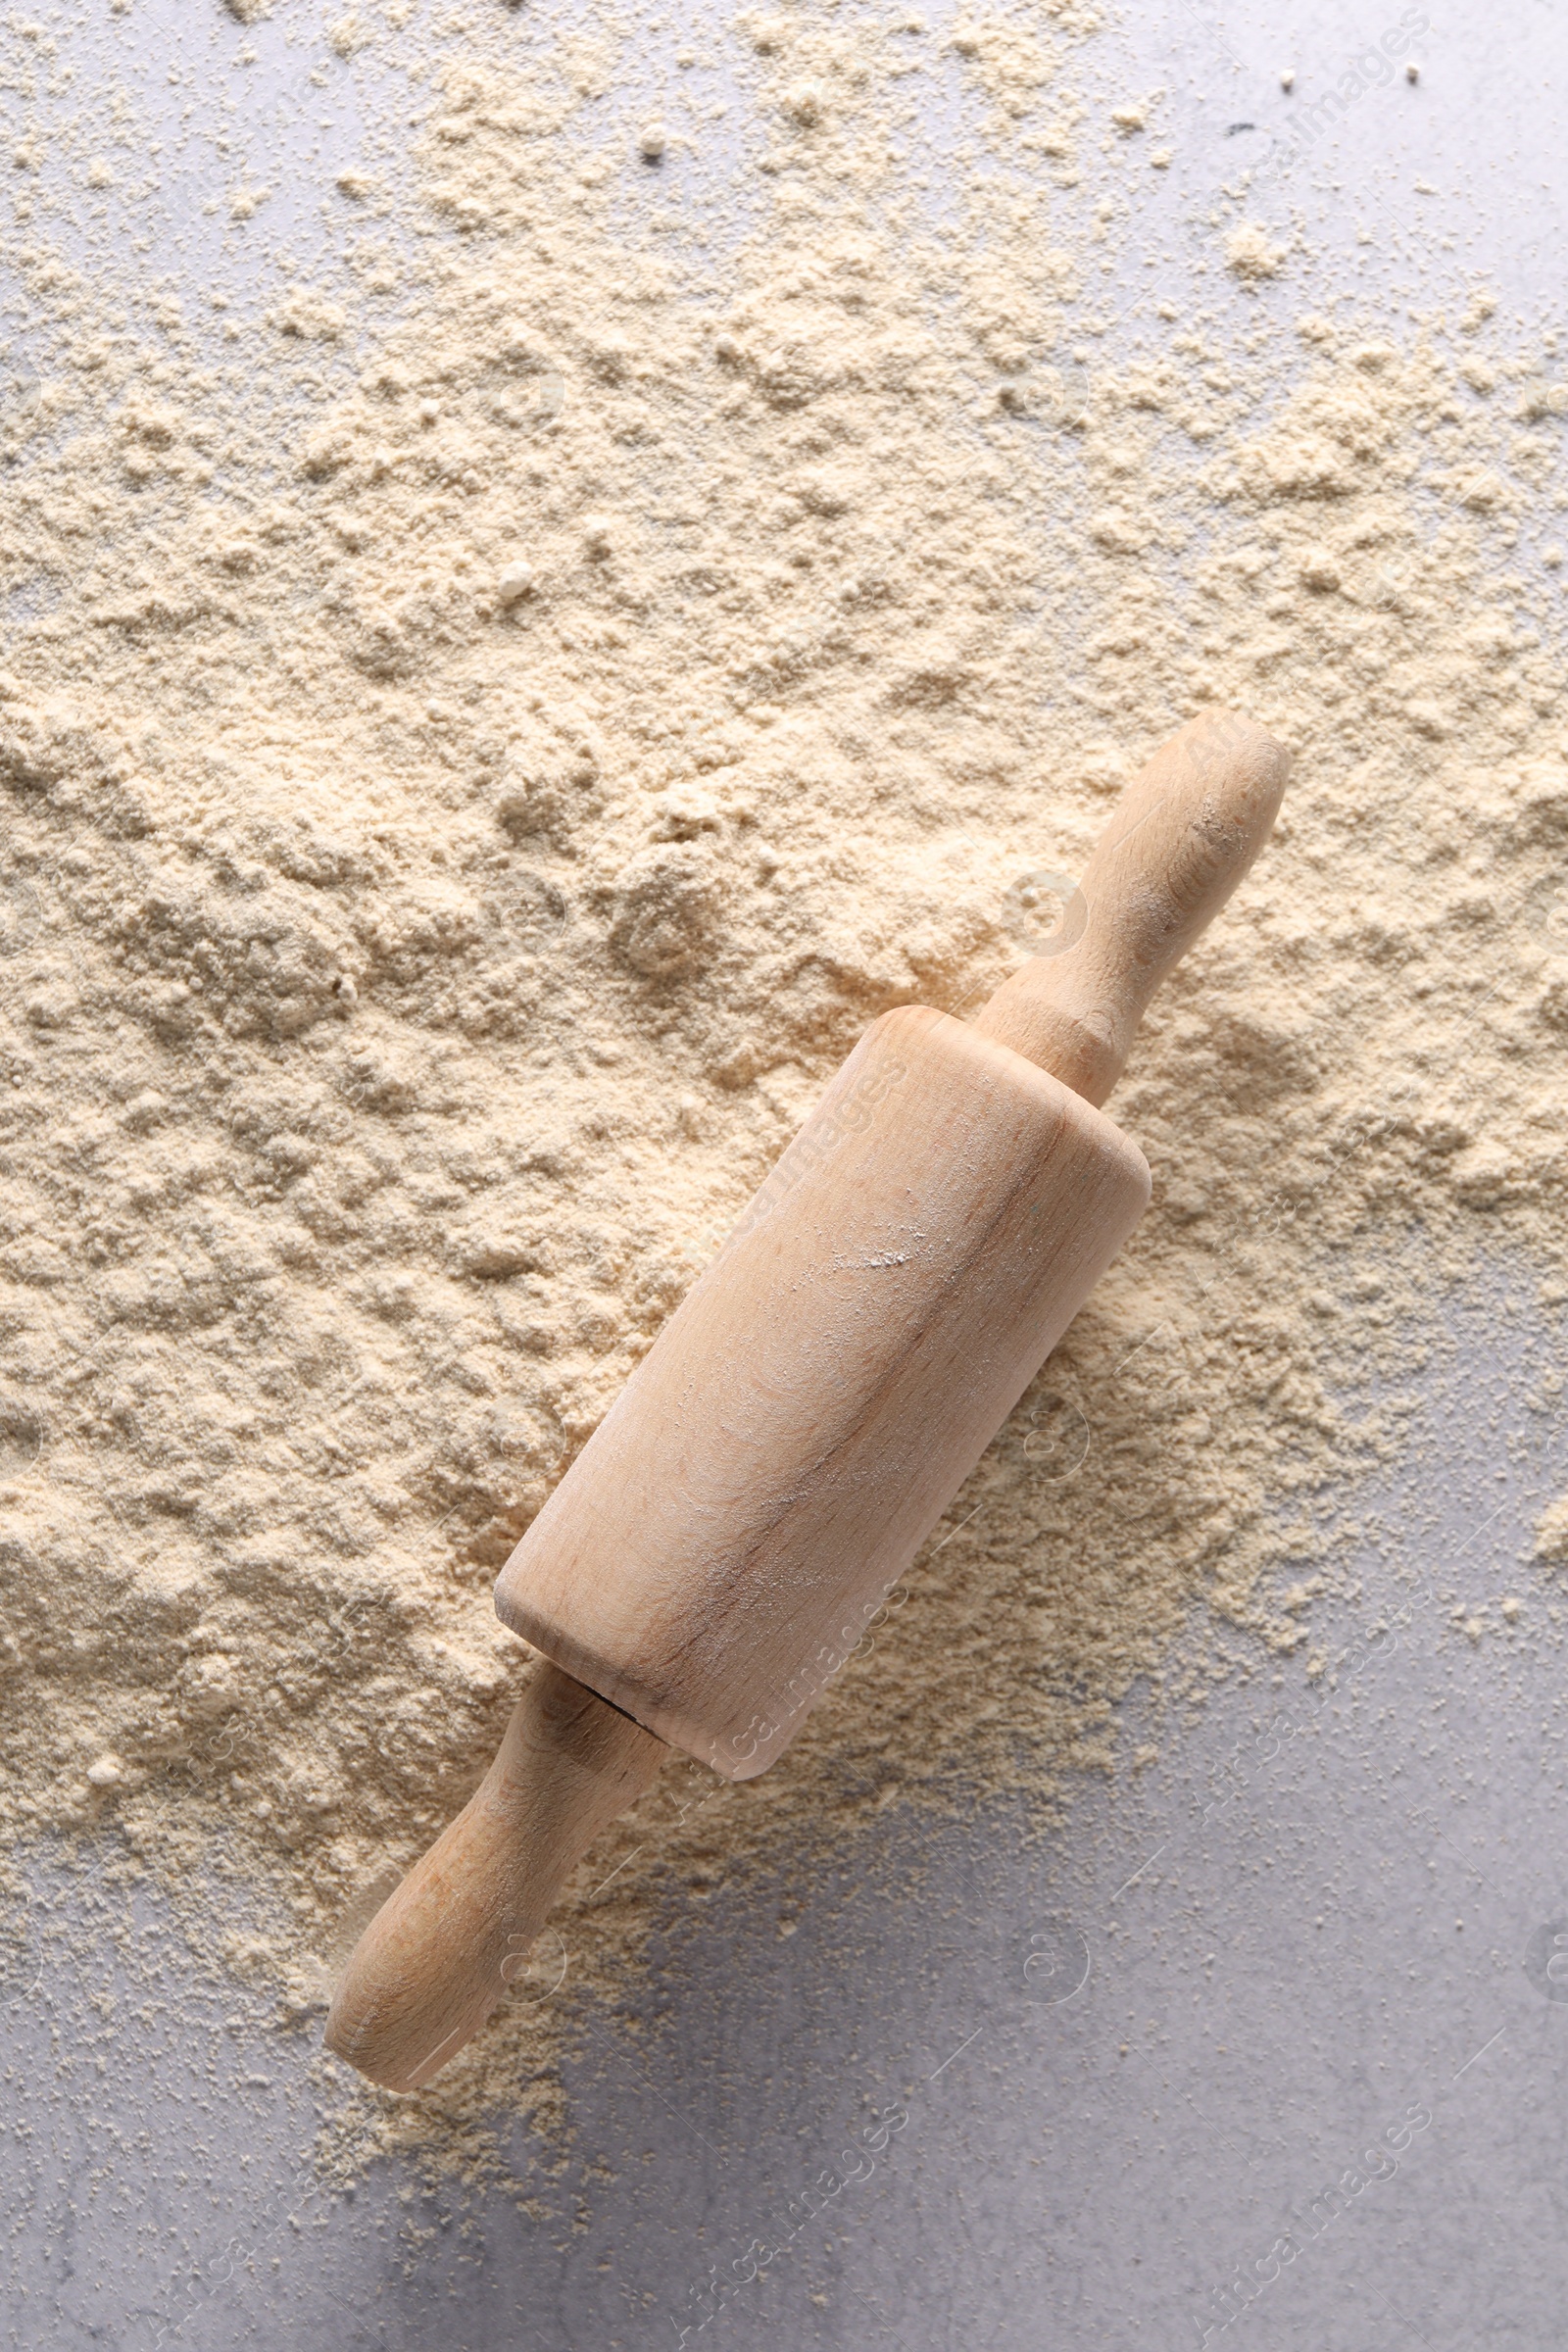
[[[181,108],[216,111],[240,89],[244,40],[259,64],[235,136],[353,160],[357,108],[374,118],[374,61],[339,75],[329,101],[310,85],[320,42],[289,45],[320,31],[303,9],[249,31],[188,0],[45,14],[78,59],[78,103],[94,71],[134,56],[148,103],[167,106],[172,165],[148,216],[125,223],[127,270],[200,285],[214,263],[202,200],[219,167],[179,148]],[[1312,96],[1399,14],[1394,0],[1124,12],[1095,71],[1112,96],[1166,92],[1178,158],[1150,205],[1178,292],[1213,188],[1262,160],[1281,120],[1279,68]],[[527,42],[534,26],[498,12],[491,38]],[[639,52],[639,87],[604,108],[635,122],[670,103],[675,45],[670,21]],[[1554,318],[1566,49],[1540,0],[1465,16],[1446,0],[1418,40],[1420,85],[1368,92],[1260,191],[1260,216],[1302,226],[1316,256],[1302,268],[1324,282],[1406,301],[1418,282],[1432,299],[1483,268],[1521,315]],[[954,108],[933,94],[936,158],[961,132]],[[743,141],[741,108],[731,132]],[[268,256],[308,259],[320,240],[308,176],[273,176],[256,303]],[[693,181],[691,202],[717,221],[722,195]],[[172,247],[172,230],[186,242]],[[1302,296],[1298,275],[1291,301]],[[21,397],[26,315],[2,278],[0,299],[0,374]],[[1208,301],[1232,296],[1211,282]],[[12,593],[26,609],[24,586]],[[628,1992],[637,2034],[607,2013],[571,2072],[576,2150],[531,2216],[503,2194],[425,2197],[395,2166],[322,2197],[301,2161],[329,2103],[313,2039],[280,2034],[273,2002],[216,1964],[172,1990],[150,1893],[40,1867],[0,1985],[5,2340],[1556,2347],[1568,1715],[1528,1538],[1563,1484],[1563,1425],[1530,1402],[1542,1364],[1561,1362],[1559,1319],[1535,1296],[1528,1270],[1479,1263],[1443,1308],[1448,1385],[1425,1388],[1403,1465],[1354,1496],[1359,1524],[1399,1541],[1363,1541],[1345,1559],[1359,1606],[1314,1616],[1326,1677],[1293,1665],[1279,1686],[1220,1689],[1197,1726],[1166,1726],[1147,1773],[1081,1788],[1044,1842],[1006,1806],[961,1830],[893,1806],[875,1851],[811,1889],[788,1943],[755,1889],[741,1900],[719,1884],[701,1915],[670,1915],[661,1966]],[[1493,1609],[1472,1644],[1455,1606],[1509,1590],[1528,1630],[1505,1632]],[[1396,1637],[1368,1646],[1380,1618]],[[1126,1750],[1140,1705],[1128,1700]],[[797,1875],[780,1851],[780,1903]],[[56,1893],[87,1926],[94,1903],[129,1903],[139,1957],[110,1957],[106,1938],[82,1959],[80,1936],[52,1933]],[[870,2107],[905,2122],[780,2246],[792,2199]],[[1368,2166],[1373,2143],[1392,2159]],[[515,2159],[527,2169],[522,2143]],[[710,2267],[736,2279],[757,2241],[780,2246],[766,2277],[717,2307]]]

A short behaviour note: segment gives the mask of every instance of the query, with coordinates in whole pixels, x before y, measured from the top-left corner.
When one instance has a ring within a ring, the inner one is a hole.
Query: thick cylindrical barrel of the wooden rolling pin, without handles
[[[1138,1223],[1143,1152],[945,1014],[884,1014],[496,1583],[501,1618],[764,1771]]]

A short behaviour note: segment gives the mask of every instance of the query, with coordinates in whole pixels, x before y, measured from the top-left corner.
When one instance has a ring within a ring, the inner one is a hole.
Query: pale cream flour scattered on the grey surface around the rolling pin
[[[259,167],[226,310],[141,299],[92,219],[56,254],[80,82],[14,174],[0,1806],[176,1891],[221,1835],[296,1922],[235,1966],[299,2016],[301,1938],[501,1733],[496,1569],[842,1054],[978,1004],[1013,884],[1077,877],[1190,710],[1302,757],[1117,1096],[1154,1204],[778,1766],[668,1773],[609,1832],[581,1966],[625,1980],[651,1853],[696,1903],[766,1872],[776,1806],[827,1846],[954,1783],[1044,1811],[1204,1597],[1215,1670],[1316,1663],[1312,1496],[1382,1437],[1359,1376],[1434,1261],[1568,1256],[1561,350],[1481,287],[1401,339],[1262,195],[1272,275],[1227,263],[1227,200],[1161,306],[1145,141],[1100,158],[1063,99],[1093,47],[769,26],[731,52],[769,169],[703,301],[684,200],[635,242],[583,176],[614,42],[531,78],[454,35],[397,85],[386,186],[414,143],[433,233],[378,216],[381,165],[322,183],[353,268],[315,306],[266,292]],[[1011,174],[954,172],[940,252],[877,226],[912,56]],[[414,64],[390,24],[322,52],[371,115]],[[468,2161],[550,2016],[397,2129]]]

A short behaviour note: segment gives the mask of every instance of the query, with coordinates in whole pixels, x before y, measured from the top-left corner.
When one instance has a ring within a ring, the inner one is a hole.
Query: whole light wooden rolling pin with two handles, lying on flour
[[[480,2030],[670,1748],[745,1780],[799,1729],[1138,1223],[1098,1105],[1288,767],[1182,727],[973,1025],[905,1007],[853,1049],[501,1571],[545,1663],[348,1959],[327,2042],[362,2074],[418,2089]]]

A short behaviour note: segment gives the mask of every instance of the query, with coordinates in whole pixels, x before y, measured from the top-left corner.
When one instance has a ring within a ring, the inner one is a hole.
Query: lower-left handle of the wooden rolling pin
[[[543,1663],[458,1818],[381,1905],[327,2018],[327,2049],[418,2091],[527,1964],[562,1879],[670,1750]]]

